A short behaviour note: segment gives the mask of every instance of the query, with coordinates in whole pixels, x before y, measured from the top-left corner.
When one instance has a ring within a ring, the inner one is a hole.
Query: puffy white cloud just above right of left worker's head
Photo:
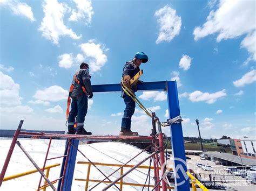
[[[85,54],[85,59],[89,60],[87,63],[92,72],[97,72],[107,62],[107,56],[104,54],[104,51],[107,51],[108,49],[105,49],[102,44],[95,44],[93,43],[93,40],[89,40],[88,43],[79,46]]]

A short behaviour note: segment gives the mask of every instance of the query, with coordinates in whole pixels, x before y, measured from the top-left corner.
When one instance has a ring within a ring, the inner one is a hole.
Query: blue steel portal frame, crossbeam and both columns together
[[[121,91],[120,83],[116,84],[103,84],[103,85],[93,85],[92,90],[94,93],[99,92],[113,92],[113,91]],[[168,100],[168,108],[169,108],[169,116],[170,118],[174,118],[180,115],[179,109],[179,100],[178,100],[178,91],[176,81],[160,81],[160,82],[144,82],[143,84],[138,85],[138,91],[167,91],[167,100]],[[185,156],[185,147],[183,142],[183,132],[180,123],[174,123],[170,127],[171,130],[171,140],[172,140],[172,151],[174,158],[179,158],[186,162]],[[75,144],[78,145],[76,142]],[[68,169],[66,171],[65,176],[65,185],[64,190],[69,190],[72,185],[73,172],[75,170],[75,159],[77,152],[70,152],[69,160],[72,162],[68,165]],[[186,172],[187,167],[186,164],[180,162],[178,160],[174,160],[174,166],[176,169],[179,167],[183,168]],[[187,177],[182,173],[182,171],[178,171],[179,179],[176,179],[177,190],[190,190],[189,183]]]

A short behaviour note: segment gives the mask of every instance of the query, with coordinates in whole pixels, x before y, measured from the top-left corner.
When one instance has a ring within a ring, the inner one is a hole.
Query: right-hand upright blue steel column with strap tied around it
[[[168,100],[168,109],[169,109],[170,118],[172,119],[174,117],[179,116],[180,109],[179,109],[179,99],[178,99],[176,81],[167,82],[167,100]],[[170,131],[171,131],[171,141],[172,141],[172,154],[174,159],[176,159],[174,160],[174,169],[177,169],[176,173],[178,178],[175,179],[177,190],[178,191],[190,190],[187,175],[184,174],[184,172],[180,171],[180,167],[182,166],[184,171],[187,172],[187,167],[183,162],[177,160],[178,158],[186,162],[181,123],[172,124],[170,127]]]

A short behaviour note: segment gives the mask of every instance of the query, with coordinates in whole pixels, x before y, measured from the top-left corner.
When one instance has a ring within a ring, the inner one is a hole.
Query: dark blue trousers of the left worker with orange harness
[[[77,116],[77,128],[76,130],[83,130],[84,128],[84,118],[87,114],[88,108],[88,98],[86,94],[79,97],[72,97],[71,111],[69,112],[68,119],[68,129],[70,131],[75,131],[74,123]]]

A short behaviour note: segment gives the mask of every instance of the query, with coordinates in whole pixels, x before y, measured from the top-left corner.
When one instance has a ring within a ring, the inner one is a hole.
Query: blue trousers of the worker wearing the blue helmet
[[[123,98],[126,107],[124,110],[124,117],[122,118],[121,128],[131,130],[131,118],[135,111],[135,102],[126,93],[124,93]]]

